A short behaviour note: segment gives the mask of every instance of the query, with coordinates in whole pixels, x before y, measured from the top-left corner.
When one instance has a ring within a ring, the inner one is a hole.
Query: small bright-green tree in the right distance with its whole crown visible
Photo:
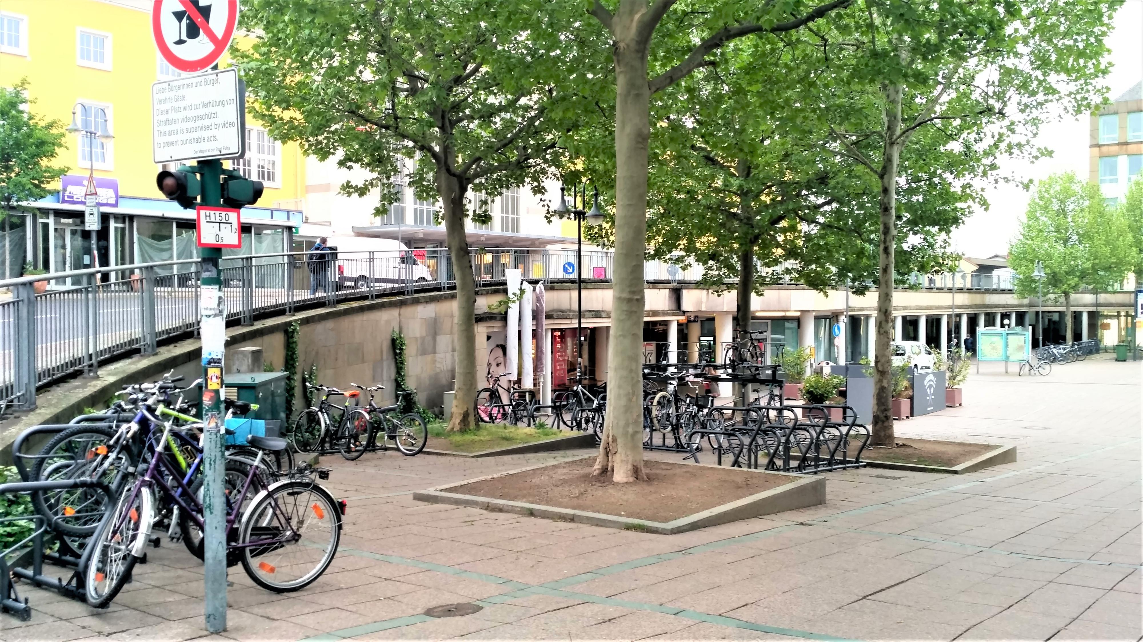
[[[1044,265],[1042,283],[1032,278]],[[1074,174],[1045,178],[1036,186],[1020,233],[1008,249],[1008,265],[1016,273],[1016,296],[1064,299],[1065,337],[1072,329],[1071,296],[1085,286],[1111,289],[1130,268],[1132,243],[1127,217],[1109,208],[1100,186]]]

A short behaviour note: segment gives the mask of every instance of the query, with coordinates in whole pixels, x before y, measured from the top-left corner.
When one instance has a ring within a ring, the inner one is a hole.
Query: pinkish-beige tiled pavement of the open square
[[[203,629],[198,561],[165,541],[111,609],[31,589],[32,620],[0,616],[0,639],[1138,640],[1140,372],[1102,359],[974,375],[965,407],[898,434],[1016,444],[1015,464],[830,473],[823,506],[676,536],[409,496],[578,452],[329,457],[350,506],[333,567],[287,595],[232,569],[222,637]]]

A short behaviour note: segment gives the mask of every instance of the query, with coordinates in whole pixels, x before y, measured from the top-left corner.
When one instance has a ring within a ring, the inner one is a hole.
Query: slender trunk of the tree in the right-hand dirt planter
[[[881,234],[877,278],[877,342],[873,346],[873,434],[872,446],[896,446],[893,434],[893,281],[897,247],[897,161],[901,158],[900,85],[885,90],[885,151],[881,158]]]

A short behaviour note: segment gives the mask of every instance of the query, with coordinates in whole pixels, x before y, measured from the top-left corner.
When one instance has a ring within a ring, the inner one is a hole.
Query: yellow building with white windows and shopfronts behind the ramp
[[[200,0],[203,5],[206,0]],[[222,1],[222,0],[217,0]],[[0,0],[0,87],[27,81],[33,113],[111,135],[69,135],[53,163],[67,167],[61,191],[42,202],[30,225],[23,212],[0,224],[0,278],[19,275],[26,262],[51,272],[193,258],[194,211],[162,198],[152,155],[151,85],[178,78],[151,37],[151,0]],[[271,139],[247,122],[247,153],[230,164],[262,180],[256,207],[243,208],[241,250],[290,248],[302,223],[305,162],[298,146]],[[94,163],[102,228],[83,230],[83,182]],[[173,169],[173,167],[167,167]],[[91,252],[95,242],[96,252]],[[181,270],[187,267],[179,266]],[[173,268],[168,267],[167,271]]]

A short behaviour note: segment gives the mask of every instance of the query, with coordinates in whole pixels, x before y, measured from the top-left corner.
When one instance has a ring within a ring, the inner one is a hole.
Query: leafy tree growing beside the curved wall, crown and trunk
[[[457,292],[450,431],[472,426],[478,387],[466,193],[526,183],[538,191],[561,153],[560,133],[583,111],[577,95],[559,87],[590,93],[598,82],[593,61],[581,56],[592,48],[561,31],[589,19],[582,10],[502,5],[254,0],[242,21],[258,38],[248,51],[233,51],[255,98],[251,110],[275,138],[373,174],[343,192],[363,196],[379,188],[377,210],[384,211],[403,158],[414,161],[418,196],[439,199]]]

